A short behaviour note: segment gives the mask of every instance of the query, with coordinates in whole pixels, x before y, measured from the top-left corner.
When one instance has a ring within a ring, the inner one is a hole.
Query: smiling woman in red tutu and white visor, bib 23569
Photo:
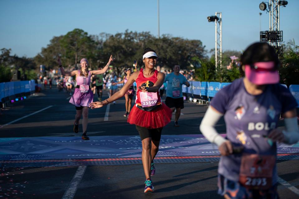
[[[90,103],[90,108],[100,108],[121,98],[136,81],[137,92],[127,122],[135,124],[142,141],[142,164],[145,173],[144,192],[154,191],[150,176],[155,174],[154,157],[159,150],[162,128],[171,120],[172,111],[162,103],[159,88],[162,86],[165,74],[154,69],[158,56],[153,49],[145,49],[143,62],[145,69],[134,72],[121,90],[102,102]]]

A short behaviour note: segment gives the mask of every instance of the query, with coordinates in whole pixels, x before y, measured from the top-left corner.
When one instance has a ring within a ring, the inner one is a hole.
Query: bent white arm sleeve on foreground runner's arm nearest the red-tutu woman
[[[215,129],[215,124],[221,116],[221,113],[214,111],[211,106],[209,106],[199,127],[202,135],[204,135],[208,141],[215,143],[217,146],[220,146],[226,141]]]

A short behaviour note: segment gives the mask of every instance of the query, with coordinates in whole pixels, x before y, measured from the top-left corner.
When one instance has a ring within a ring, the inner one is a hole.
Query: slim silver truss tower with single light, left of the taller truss
[[[217,70],[217,66],[222,67],[222,12],[215,12],[215,16],[215,66]]]

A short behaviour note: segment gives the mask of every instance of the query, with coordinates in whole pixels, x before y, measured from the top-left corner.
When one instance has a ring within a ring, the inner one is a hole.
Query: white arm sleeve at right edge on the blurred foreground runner
[[[285,137],[286,144],[295,144],[299,141],[299,128],[297,117],[284,118],[286,131],[282,131]]]

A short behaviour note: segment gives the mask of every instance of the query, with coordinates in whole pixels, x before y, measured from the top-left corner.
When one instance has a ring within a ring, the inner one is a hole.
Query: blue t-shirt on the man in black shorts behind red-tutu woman
[[[166,97],[183,97],[182,86],[187,81],[182,74],[175,75],[174,72],[166,75],[164,82],[167,82]]]

